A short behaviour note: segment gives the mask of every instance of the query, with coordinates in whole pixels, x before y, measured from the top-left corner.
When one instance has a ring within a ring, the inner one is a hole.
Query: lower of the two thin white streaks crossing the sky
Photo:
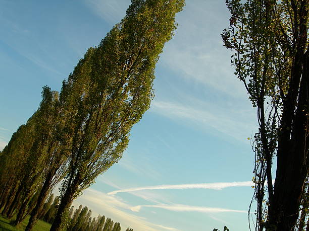
[[[163,209],[166,209],[166,210],[176,211],[176,212],[204,212],[204,213],[240,212],[240,213],[247,213],[247,211],[245,211],[245,210],[190,206],[190,205],[184,205],[184,204],[137,205],[137,206],[131,207],[131,210],[134,211],[134,212],[139,212],[142,207],[163,208]]]

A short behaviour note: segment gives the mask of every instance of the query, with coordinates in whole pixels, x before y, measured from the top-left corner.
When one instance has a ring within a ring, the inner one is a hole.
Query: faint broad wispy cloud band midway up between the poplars
[[[256,128],[253,110],[233,108],[233,106],[218,107],[209,103],[194,101],[189,103],[176,103],[155,100],[151,103],[150,111],[171,119],[182,119],[194,123],[198,128],[213,128],[220,133],[229,135],[238,140],[245,141]],[[251,119],[251,120],[250,120]]]

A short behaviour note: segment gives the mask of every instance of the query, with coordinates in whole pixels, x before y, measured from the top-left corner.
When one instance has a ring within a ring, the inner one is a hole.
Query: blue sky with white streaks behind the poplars
[[[0,148],[37,109],[41,88],[60,90],[129,5],[0,1]],[[256,115],[221,41],[229,23],[225,1],[187,0],[176,20],[157,64],[156,97],[133,127],[124,157],[73,204],[124,230],[248,230],[247,137],[256,131]]]

